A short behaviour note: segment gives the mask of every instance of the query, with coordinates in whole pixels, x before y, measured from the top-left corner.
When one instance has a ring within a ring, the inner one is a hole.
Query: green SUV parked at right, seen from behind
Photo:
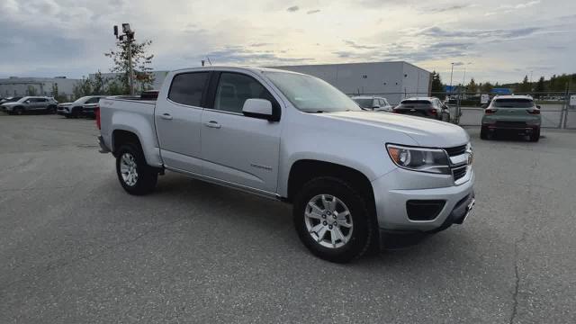
[[[508,130],[527,135],[531,141],[540,139],[540,106],[529,95],[498,95],[492,99],[482,117],[480,137],[489,139],[497,131]]]

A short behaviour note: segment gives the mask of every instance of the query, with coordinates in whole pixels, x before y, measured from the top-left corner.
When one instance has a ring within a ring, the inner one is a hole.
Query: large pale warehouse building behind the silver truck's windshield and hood
[[[428,96],[431,76],[407,62],[370,62],[274,67],[317,76],[345,94],[378,94],[392,104],[410,96]]]

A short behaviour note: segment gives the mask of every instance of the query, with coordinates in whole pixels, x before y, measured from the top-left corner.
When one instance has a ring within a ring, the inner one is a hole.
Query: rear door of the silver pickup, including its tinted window
[[[158,99],[155,119],[164,164],[202,173],[200,130],[209,71],[176,74],[166,100]]]

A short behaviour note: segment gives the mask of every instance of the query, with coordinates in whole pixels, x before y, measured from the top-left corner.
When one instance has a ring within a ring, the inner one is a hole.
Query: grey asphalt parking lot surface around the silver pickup
[[[576,322],[575,131],[467,129],[464,225],[335,265],[284,203],[175,174],[124,193],[94,121],[0,114],[0,130],[0,323]]]

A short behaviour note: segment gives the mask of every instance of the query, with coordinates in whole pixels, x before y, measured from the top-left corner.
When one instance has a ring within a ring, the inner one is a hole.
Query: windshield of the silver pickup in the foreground
[[[283,72],[267,72],[266,76],[301,112],[362,110],[346,94],[318,77]]]

